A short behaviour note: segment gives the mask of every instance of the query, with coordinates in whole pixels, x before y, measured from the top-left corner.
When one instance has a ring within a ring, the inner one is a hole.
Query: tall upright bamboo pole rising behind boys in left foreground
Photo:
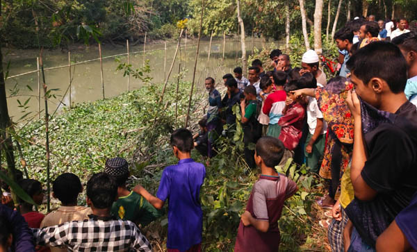
[[[42,53],[43,48],[40,50],[39,53],[39,62],[40,62],[40,69],[42,69],[42,83],[43,83],[43,90],[44,90],[44,102],[45,102],[45,151],[47,157],[47,212],[49,212],[51,207],[51,180],[49,176],[49,114],[48,114],[48,86],[45,82],[45,74],[43,69],[43,60],[42,60]]]

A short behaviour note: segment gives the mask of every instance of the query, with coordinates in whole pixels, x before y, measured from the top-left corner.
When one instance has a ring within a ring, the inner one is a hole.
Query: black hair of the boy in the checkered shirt
[[[87,196],[95,208],[111,208],[117,196],[115,178],[105,172],[92,175],[87,182]]]

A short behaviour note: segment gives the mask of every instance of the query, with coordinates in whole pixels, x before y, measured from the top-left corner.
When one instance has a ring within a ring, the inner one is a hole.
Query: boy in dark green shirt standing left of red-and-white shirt
[[[268,77],[267,77],[268,78]],[[247,165],[254,169],[256,168],[254,153],[255,151],[250,149],[250,144],[256,144],[259,137],[262,135],[262,126],[259,124],[258,118],[258,101],[256,99],[256,89],[252,85],[245,87],[245,100],[240,101],[240,109],[242,111],[242,124],[243,124],[243,143],[245,144],[245,161]]]

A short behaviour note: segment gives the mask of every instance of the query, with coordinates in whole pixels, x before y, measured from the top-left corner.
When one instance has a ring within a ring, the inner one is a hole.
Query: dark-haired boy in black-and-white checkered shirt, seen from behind
[[[65,246],[70,251],[151,251],[147,238],[133,222],[111,216],[116,199],[114,178],[104,172],[93,175],[87,183],[87,203],[92,210],[89,219],[33,229],[36,243]]]

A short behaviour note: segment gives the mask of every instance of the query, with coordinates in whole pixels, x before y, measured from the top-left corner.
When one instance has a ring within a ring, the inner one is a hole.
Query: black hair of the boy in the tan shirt
[[[65,205],[76,202],[78,194],[83,190],[81,180],[75,174],[65,173],[56,177],[52,183],[55,196]]]

